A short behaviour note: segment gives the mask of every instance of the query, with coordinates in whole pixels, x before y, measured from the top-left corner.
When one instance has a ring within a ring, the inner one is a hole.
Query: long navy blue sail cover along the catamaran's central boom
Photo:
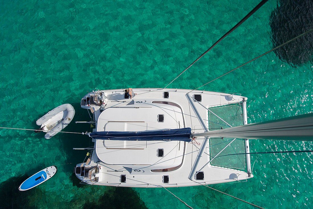
[[[93,139],[127,141],[184,141],[191,142],[191,128],[155,131],[95,131],[88,134]]]

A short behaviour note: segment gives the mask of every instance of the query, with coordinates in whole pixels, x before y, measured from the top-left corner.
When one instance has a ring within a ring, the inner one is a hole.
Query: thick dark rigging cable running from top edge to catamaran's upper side
[[[173,81],[175,81],[179,76],[182,75],[186,70],[189,69],[194,63],[198,62],[198,60],[203,57],[206,53],[208,53],[211,49],[213,49],[214,46],[216,46],[221,40],[223,40],[227,35],[229,35],[231,32],[233,32],[236,28],[239,27],[245,20],[247,20],[254,12],[256,12],[260,7],[263,6],[264,3],[266,3],[268,0],[262,0],[256,7],[254,7],[242,20],[240,20],[235,26],[233,26],[232,29],[228,30],[227,33],[225,33],[220,39],[218,39],[207,51],[205,51],[201,56],[199,56],[195,61],[193,61],[185,70],[183,70],[174,80],[172,80],[168,85],[170,85]],[[166,86],[166,87],[167,87]],[[164,88],[166,88],[164,87]],[[164,89],[163,88],[163,89]]]

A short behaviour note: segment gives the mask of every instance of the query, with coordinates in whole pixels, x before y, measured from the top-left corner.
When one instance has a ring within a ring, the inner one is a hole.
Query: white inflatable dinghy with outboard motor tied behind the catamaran
[[[38,130],[46,132],[44,137],[50,139],[62,129],[64,129],[72,121],[75,110],[72,105],[64,104],[49,111],[36,121],[40,126]]]

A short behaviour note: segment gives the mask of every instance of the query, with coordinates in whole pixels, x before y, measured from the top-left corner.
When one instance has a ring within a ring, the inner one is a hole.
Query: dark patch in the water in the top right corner
[[[273,47],[313,28],[313,1],[279,0],[271,13]],[[276,56],[293,67],[313,62],[313,32],[275,50]]]

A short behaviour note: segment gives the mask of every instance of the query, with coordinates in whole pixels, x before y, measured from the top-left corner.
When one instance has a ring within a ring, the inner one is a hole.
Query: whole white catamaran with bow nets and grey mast
[[[96,125],[87,133],[95,142],[90,158],[74,168],[83,183],[178,187],[247,180],[253,177],[248,139],[313,135],[312,114],[246,125],[247,98],[237,94],[133,91],[132,99],[119,89],[81,99]]]

